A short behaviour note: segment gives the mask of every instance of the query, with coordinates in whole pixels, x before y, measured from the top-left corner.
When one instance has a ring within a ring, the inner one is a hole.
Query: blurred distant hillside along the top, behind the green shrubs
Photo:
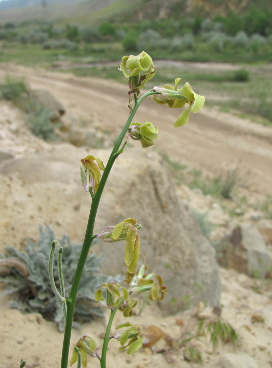
[[[42,6],[46,3],[46,7]],[[184,15],[213,17],[245,13],[250,4],[271,7],[271,0],[8,0],[0,3],[0,23],[56,21],[60,24],[137,22]]]

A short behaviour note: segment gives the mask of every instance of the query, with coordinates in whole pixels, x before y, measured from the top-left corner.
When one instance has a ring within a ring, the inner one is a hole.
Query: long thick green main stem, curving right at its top
[[[85,266],[85,262],[86,262],[86,259],[87,259],[87,256],[90,250],[90,246],[92,245],[92,241],[95,238],[95,236],[93,235],[93,228],[94,228],[94,222],[96,219],[98,205],[100,202],[101,195],[103,193],[103,189],[105,187],[107,178],[110,174],[112,165],[114,164],[114,161],[117,159],[117,157],[121,153],[121,152],[118,152],[118,149],[122,144],[122,140],[125,137],[126,131],[128,130],[128,127],[140,103],[147,96],[155,95],[155,94],[157,94],[157,92],[150,90],[144,93],[144,95],[141,96],[139,100],[137,100],[136,96],[134,95],[135,105],[133,106],[133,109],[131,110],[129,114],[128,120],[126,121],[126,124],[124,125],[124,128],[122,129],[115,143],[115,146],[111,152],[110,158],[108,159],[108,163],[101,177],[100,184],[96,191],[96,194],[92,196],[92,205],[91,205],[90,215],[89,215],[89,219],[87,223],[86,234],[85,234],[84,242],[82,245],[82,250],[79,256],[78,265],[76,267],[76,272],[75,272],[74,280],[72,283],[71,291],[69,294],[69,303],[67,303],[67,318],[66,318],[66,325],[65,325],[65,330],[64,330],[64,339],[63,339],[63,346],[62,346],[61,368],[67,368],[68,366],[68,355],[69,355],[69,346],[70,346],[70,340],[71,340],[72,322],[73,322],[73,316],[74,316],[76,294],[78,292],[80,279],[81,279],[83,268]]]

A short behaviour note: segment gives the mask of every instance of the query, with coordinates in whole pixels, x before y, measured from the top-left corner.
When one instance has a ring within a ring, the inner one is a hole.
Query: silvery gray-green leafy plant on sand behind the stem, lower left
[[[7,285],[3,295],[17,292],[17,300],[11,303],[12,307],[23,312],[40,313],[44,318],[57,322],[61,330],[62,305],[53,294],[48,272],[51,244],[56,237],[49,226],[44,230],[40,226],[39,230],[40,237],[37,242],[29,238],[26,240],[25,252],[20,252],[14,247],[6,247],[5,255],[0,255],[2,259],[14,257],[29,273],[29,276],[25,277],[20,269],[11,267],[10,274],[0,277],[0,281]],[[74,244],[67,235],[64,235],[58,240],[57,251],[60,247],[63,247],[62,268],[68,297],[82,244]],[[94,304],[94,292],[108,278],[100,272],[100,263],[101,258],[97,258],[94,254],[90,254],[87,258],[76,298],[75,321],[89,321],[95,316],[103,315],[97,303]],[[54,259],[54,279],[56,286],[59,287],[57,257]]]

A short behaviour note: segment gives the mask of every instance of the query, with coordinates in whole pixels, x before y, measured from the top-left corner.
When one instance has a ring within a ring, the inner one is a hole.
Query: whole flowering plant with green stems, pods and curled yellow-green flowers
[[[98,358],[100,367],[106,368],[106,355],[107,347],[110,339],[114,338],[121,344],[119,350],[127,349],[127,353],[131,354],[139,349],[143,344],[143,336],[139,326],[131,325],[129,322],[122,323],[117,329],[121,329],[121,332],[117,332],[115,336],[110,337],[110,329],[115,313],[119,310],[123,313],[124,317],[129,317],[133,313],[133,308],[137,305],[137,301],[132,296],[139,293],[148,293],[150,301],[162,300],[167,294],[167,287],[163,284],[163,280],[160,275],[154,277],[153,273],[146,274],[147,267],[141,265],[137,269],[137,262],[140,254],[140,237],[138,230],[142,227],[137,225],[137,220],[133,217],[127,218],[124,221],[111,226],[104,227],[100,234],[94,234],[94,222],[96,219],[96,213],[99,206],[100,198],[103,193],[105,183],[110,174],[111,168],[119,155],[125,152],[126,142],[128,138],[141,141],[142,147],[147,148],[154,145],[154,140],[158,139],[158,128],[151,122],[146,121],[144,123],[132,123],[133,117],[140,106],[140,103],[148,96],[153,96],[154,101],[161,105],[168,105],[170,108],[189,106],[180,114],[174,127],[179,127],[187,123],[189,119],[190,110],[193,113],[198,112],[203,104],[204,97],[197,95],[189,85],[185,83],[182,88],[178,89],[180,78],[175,80],[175,86],[165,85],[164,87],[155,86],[148,92],[140,96],[140,88],[146,85],[146,82],[154,77],[155,68],[151,57],[142,52],[139,55],[124,56],[120,65],[120,70],[124,76],[128,79],[129,98],[130,98],[130,113],[129,117],[112,149],[111,155],[108,159],[107,165],[104,167],[103,162],[92,155],[87,155],[81,160],[82,166],[80,167],[81,181],[85,191],[89,192],[92,197],[92,204],[90,208],[90,216],[87,222],[85,240],[82,245],[81,254],[78,260],[78,265],[75,271],[74,280],[71,286],[69,296],[65,293],[62,273],[62,248],[60,248],[58,254],[58,275],[60,279],[60,292],[57,290],[54,282],[53,272],[53,258],[57,241],[52,243],[52,249],[49,259],[49,277],[50,283],[54,293],[56,294],[59,302],[63,306],[64,313],[64,340],[62,348],[61,368],[67,368],[68,354],[71,340],[71,330],[74,315],[74,307],[76,302],[76,295],[80,279],[82,276],[83,268],[95,238],[101,239],[106,243],[109,243],[109,247],[114,247],[113,244],[117,241],[125,240],[124,246],[124,261],[128,266],[126,273],[127,287],[124,287],[115,282],[103,283],[95,293],[96,301],[106,300],[107,307],[111,311],[110,319],[105,331],[104,343],[101,353],[97,350],[96,342],[91,336],[83,336],[74,346],[72,358],[70,364],[77,362],[77,367],[81,365],[86,367],[87,357]],[[132,95],[134,96],[134,103],[132,102]],[[126,138],[125,138],[126,136]],[[124,140],[125,139],[125,140]],[[103,173],[102,173],[103,172]],[[25,361],[22,360],[22,367]]]

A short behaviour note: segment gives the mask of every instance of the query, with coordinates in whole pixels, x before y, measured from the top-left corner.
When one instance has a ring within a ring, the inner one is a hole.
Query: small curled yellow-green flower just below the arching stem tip
[[[154,145],[153,139],[159,138],[158,131],[158,128],[150,123],[150,121],[146,121],[144,124],[131,123],[128,128],[129,136],[132,139],[140,140],[143,148]]]

